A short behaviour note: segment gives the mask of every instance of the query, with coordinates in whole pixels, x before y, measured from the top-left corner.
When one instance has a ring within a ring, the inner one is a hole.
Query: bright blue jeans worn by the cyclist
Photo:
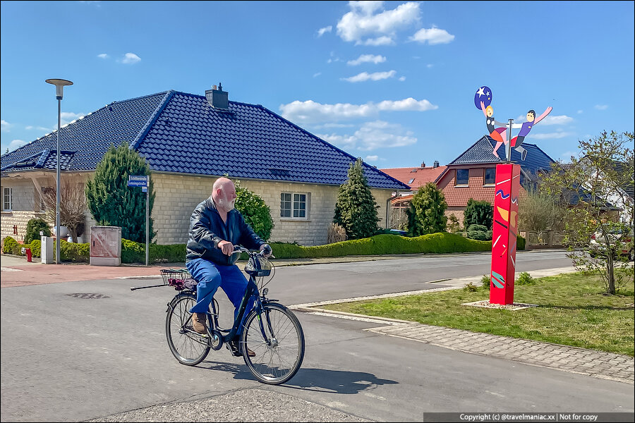
[[[196,304],[190,309],[191,313],[205,313],[210,307],[210,302],[218,287],[223,288],[227,298],[234,304],[234,320],[238,315],[238,307],[241,305],[243,295],[247,290],[247,278],[236,264],[231,266],[221,266],[205,259],[193,259],[186,263],[190,274],[198,282],[196,286]],[[247,302],[243,319],[253,308],[255,295]],[[242,322],[241,322],[242,323]],[[241,333],[242,324],[238,327]]]

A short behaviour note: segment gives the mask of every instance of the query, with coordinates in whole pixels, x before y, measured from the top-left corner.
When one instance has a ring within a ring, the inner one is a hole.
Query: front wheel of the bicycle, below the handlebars
[[[304,358],[304,333],[291,310],[277,303],[253,309],[245,320],[241,347],[247,367],[265,384],[279,385],[291,379]],[[249,357],[248,349],[255,353]]]

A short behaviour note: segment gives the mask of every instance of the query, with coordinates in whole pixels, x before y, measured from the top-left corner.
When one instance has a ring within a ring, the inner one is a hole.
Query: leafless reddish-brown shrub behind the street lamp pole
[[[73,243],[77,242],[78,228],[84,223],[84,211],[86,210],[86,196],[83,183],[71,183],[63,181],[61,184],[59,200],[59,224],[66,226],[71,233]],[[57,194],[54,187],[42,189],[42,200],[46,206],[45,216],[48,221],[55,224],[55,209]],[[57,234],[59,236],[59,234]]]

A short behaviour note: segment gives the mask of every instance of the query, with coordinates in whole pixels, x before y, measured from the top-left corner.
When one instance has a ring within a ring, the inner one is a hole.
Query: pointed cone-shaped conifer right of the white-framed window
[[[339,186],[333,223],[342,226],[349,239],[368,238],[379,231],[379,206],[370,192],[361,158],[351,163],[348,177]]]

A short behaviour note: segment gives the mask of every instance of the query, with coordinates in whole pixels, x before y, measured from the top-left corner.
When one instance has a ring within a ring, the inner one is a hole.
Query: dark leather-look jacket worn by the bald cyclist
[[[238,210],[231,210],[225,223],[216,209],[216,204],[211,198],[207,198],[196,206],[190,218],[186,262],[202,258],[221,266],[236,263],[241,255],[224,255],[218,247],[221,241],[242,245],[250,250],[258,250],[260,245],[265,243],[255,234]]]

